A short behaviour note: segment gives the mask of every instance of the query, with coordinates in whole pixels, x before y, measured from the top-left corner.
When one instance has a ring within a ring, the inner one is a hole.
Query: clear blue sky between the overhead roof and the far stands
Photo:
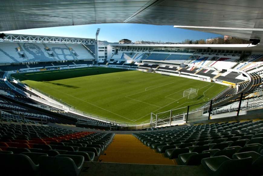
[[[2,32],[10,34],[95,38],[97,28],[101,28],[98,40],[106,40],[109,42],[118,42],[123,38],[132,40],[133,42],[138,40],[181,42],[185,39],[198,40],[221,36],[218,34],[174,28],[173,26],[127,23],[89,24]]]

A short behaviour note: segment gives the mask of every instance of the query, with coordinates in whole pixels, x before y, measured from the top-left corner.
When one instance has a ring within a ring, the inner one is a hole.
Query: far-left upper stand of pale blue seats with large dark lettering
[[[2,42],[0,48],[0,63],[94,59],[81,44]]]

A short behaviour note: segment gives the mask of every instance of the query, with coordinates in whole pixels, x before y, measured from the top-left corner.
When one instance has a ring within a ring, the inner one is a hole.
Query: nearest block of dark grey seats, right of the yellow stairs
[[[258,157],[262,157],[259,154],[263,149],[262,127],[262,120],[247,120],[133,135],[165,157],[176,159],[178,165],[202,165],[213,175],[247,175],[248,172],[263,173],[261,168],[247,169],[257,162],[262,164],[262,159],[257,161]],[[254,158],[255,155],[257,157]]]

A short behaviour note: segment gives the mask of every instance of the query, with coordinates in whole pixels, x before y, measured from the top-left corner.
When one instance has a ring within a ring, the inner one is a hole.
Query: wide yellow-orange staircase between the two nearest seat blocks
[[[177,165],[175,160],[164,158],[132,135],[116,134],[104,155],[99,156],[100,162]]]

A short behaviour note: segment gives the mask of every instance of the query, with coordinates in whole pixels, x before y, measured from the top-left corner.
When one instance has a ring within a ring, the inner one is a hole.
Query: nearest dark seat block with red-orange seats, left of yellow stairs
[[[50,126],[0,123],[3,175],[79,175],[94,161],[113,133],[79,132]],[[17,163],[17,169],[12,169]]]

